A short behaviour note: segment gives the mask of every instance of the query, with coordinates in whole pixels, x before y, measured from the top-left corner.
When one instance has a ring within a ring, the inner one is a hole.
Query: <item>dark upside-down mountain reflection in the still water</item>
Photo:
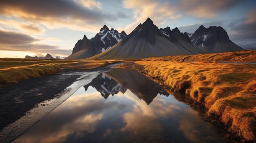
[[[84,86],[85,91],[89,86],[96,88],[101,95],[107,99],[109,95],[118,92],[124,93],[129,89],[139,99],[144,100],[148,105],[153,99],[160,95],[169,94],[157,83],[138,73],[136,70],[114,68],[108,72],[99,74],[90,84]]]

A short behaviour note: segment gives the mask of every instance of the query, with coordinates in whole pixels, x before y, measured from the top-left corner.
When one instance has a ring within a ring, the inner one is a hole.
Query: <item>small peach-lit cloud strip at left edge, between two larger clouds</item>
[[[0,25],[5,28],[17,29],[20,32],[31,34],[43,33],[45,29],[32,22],[18,22],[15,20],[0,19]]]

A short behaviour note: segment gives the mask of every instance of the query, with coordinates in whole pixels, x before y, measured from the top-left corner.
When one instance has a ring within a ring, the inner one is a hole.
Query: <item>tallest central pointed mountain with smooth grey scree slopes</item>
[[[193,46],[189,36],[181,33],[179,29],[161,30],[148,18],[115,46],[95,55],[92,59],[137,59],[203,53]]]

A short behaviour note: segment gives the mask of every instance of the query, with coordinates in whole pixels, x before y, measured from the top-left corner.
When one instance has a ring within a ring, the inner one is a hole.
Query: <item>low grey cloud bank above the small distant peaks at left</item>
[[[70,55],[72,53],[71,49],[60,49],[56,45],[34,43],[38,41],[38,39],[26,34],[0,30],[0,50],[51,53],[54,55]]]

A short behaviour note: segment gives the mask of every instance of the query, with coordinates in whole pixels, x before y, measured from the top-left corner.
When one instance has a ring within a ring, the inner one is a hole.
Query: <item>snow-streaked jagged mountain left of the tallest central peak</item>
[[[108,50],[120,42],[124,37],[126,37],[124,31],[119,33],[117,30],[110,30],[104,25],[99,33],[90,40],[85,35],[82,40],[78,40],[73,48],[72,54],[66,59],[84,59],[92,57]]]

